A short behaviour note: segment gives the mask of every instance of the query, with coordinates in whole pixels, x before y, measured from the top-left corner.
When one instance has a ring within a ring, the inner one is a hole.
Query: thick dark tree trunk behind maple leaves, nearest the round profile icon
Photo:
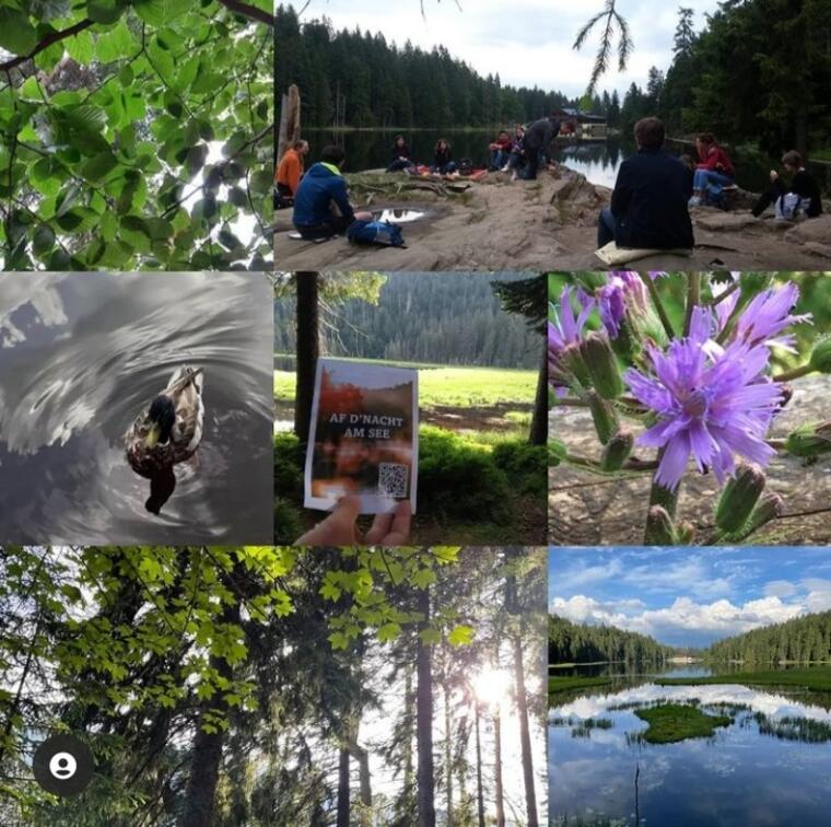
[[[223,578],[223,581],[226,581]],[[224,582],[225,587],[233,586],[232,582]],[[221,622],[239,624],[239,602],[234,601],[222,613]],[[211,656],[210,667],[215,669],[220,677],[232,680],[233,669],[224,657]],[[213,808],[216,797],[216,781],[220,777],[220,762],[222,761],[222,747],[225,741],[225,732],[211,724],[216,732],[206,732],[209,724],[209,714],[229,713],[229,706],[222,699],[221,692],[215,692],[211,698],[202,701],[202,709],[197,722],[194,748],[190,756],[190,774],[185,789],[185,808],[182,818],[182,827],[210,827],[213,819]]]

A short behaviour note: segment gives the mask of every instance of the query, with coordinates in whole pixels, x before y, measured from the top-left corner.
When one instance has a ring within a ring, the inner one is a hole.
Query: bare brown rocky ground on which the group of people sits
[[[349,177],[349,176],[348,176]],[[389,174],[354,178],[354,200],[373,209],[408,207],[428,217],[403,224],[408,247],[361,247],[337,237],[314,244],[289,238],[291,210],[276,218],[274,248],[284,270],[546,270],[600,269],[594,255],[597,214],[610,190],[561,166],[536,182],[490,173],[461,194],[394,188],[406,180]],[[692,211],[692,257],[656,255],[641,270],[831,269],[831,214],[797,226],[748,211]]]

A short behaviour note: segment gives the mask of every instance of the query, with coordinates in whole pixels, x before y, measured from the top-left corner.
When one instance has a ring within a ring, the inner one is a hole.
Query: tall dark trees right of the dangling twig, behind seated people
[[[674,59],[623,98],[622,126],[659,115],[671,135],[711,130],[779,156],[829,149],[831,21],[824,0],[727,0],[695,34],[679,10]]]

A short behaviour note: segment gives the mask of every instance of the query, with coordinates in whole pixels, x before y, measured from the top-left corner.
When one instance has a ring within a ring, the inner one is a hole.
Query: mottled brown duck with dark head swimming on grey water
[[[202,440],[201,368],[177,368],[167,387],[142,410],[125,434],[127,462],[140,476],[157,478],[196,453]]]

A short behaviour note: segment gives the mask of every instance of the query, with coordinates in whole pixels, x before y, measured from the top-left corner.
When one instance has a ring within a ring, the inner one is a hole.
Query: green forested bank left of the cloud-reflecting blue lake
[[[613,626],[573,624],[557,615],[548,619],[548,662],[660,665],[675,649]]]

